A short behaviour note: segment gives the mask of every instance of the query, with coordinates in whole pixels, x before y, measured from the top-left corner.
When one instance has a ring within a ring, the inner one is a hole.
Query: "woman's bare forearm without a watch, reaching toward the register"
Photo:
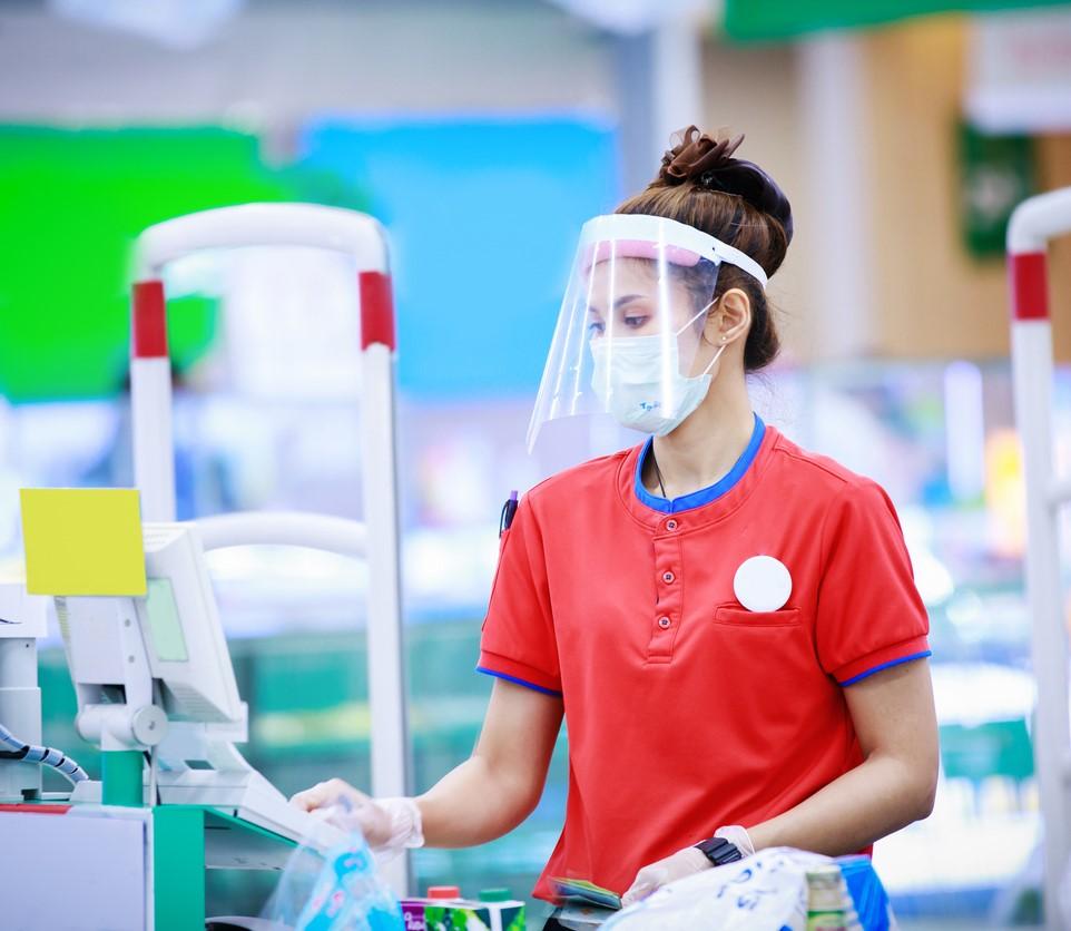
[[[433,847],[464,847],[501,837],[536,807],[539,788],[495,772],[473,755],[416,800],[424,842]]]

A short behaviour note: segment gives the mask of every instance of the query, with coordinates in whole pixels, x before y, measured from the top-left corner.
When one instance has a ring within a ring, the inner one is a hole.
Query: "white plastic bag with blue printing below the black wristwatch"
[[[770,847],[665,885],[602,927],[606,931],[806,931],[807,868],[831,862],[817,853]]]

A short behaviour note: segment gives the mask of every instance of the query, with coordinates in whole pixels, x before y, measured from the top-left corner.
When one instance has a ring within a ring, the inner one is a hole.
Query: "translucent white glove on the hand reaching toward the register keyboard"
[[[298,792],[291,804],[322,813],[343,831],[358,830],[373,851],[424,845],[420,808],[413,798],[371,798],[342,780],[327,780]]]

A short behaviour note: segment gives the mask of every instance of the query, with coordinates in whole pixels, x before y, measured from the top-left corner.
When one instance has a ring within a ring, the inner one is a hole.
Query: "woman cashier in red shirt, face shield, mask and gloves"
[[[740,137],[741,139],[743,137]],[[532,419],[608,411],[650,438],[533,488],[503,533],[472,757],[417,798],[332,780],[374,846],[481,844],[540,797],[569,721],[550,876],[623,893],[762,847],[838,855],[926,817],[928,623],[869,479],[751,411],[792,239],[758,166],[689,127],[658,178],[584,225]]]

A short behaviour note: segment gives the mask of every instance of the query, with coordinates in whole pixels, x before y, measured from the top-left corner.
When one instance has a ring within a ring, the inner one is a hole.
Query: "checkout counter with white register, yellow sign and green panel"
[[[124,489],[24,490],[22,509],[27,582],[0,587],[9,927],[203,928],[205,869],[281,870],[298,843],[342,842],[237,749],[247,706],[196,525],[143,525]],[[36,643],[50,609],[100,782],[39,746]],[[70,793],[42,793],[42,766]]]

